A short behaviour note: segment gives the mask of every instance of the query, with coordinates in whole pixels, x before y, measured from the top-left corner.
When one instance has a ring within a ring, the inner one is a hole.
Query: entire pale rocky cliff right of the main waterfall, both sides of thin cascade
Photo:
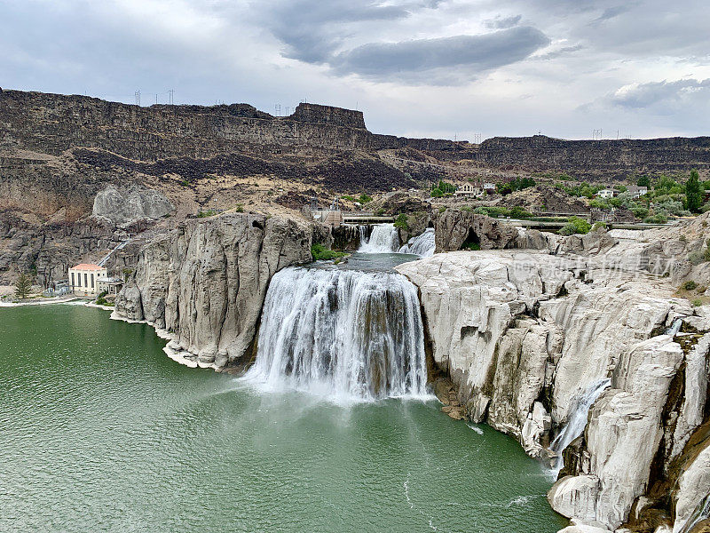
[[[710,280],[705,263],[687,259],[704,249],[706,227],[702,217],[636,239],[521,231],[515,245],[540,251],[454,251],[398,267],[419,287],[433,358],[461,416],[553,465],[559,437],[587,422],[549,494],[576,524],[567,533],[680,531],[702,506],[710,322],[706,307],[675,293],[689,275]],[[680,332],[671,329],[679,318]]]

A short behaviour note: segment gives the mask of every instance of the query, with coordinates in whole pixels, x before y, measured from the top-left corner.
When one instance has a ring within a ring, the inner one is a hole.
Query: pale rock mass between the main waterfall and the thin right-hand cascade
[[[564,425],[627,346],[692,313],[667,282],[602,275],[587,259],[545,252],[458,251],[398,271],[419,287],[434,361],[469,417],[538,457],[548,455],[546,417]]]

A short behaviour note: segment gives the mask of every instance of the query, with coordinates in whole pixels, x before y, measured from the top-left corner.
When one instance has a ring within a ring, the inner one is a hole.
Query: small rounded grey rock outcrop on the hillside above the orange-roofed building
[[[173,211],[170,200],[154,189],[138,185],[122,189],[111,185],[96,195],[91,214],[120,226],[142,219],[162,219]]]

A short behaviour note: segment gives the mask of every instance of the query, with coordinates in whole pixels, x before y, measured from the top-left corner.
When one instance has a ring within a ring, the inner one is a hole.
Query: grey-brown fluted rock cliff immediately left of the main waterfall
[[[272,275],[311,260],[314,231],[301,219],[232,214],[188,220],[141,251],[114,317],[146,321],[193,365],[246,362]]]

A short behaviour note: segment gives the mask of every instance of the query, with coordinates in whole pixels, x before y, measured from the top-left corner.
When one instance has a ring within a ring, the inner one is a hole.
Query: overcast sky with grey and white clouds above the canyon
[[[708,0],[0,0],[0,87],[299,101],[371,131],[710,135]]]

